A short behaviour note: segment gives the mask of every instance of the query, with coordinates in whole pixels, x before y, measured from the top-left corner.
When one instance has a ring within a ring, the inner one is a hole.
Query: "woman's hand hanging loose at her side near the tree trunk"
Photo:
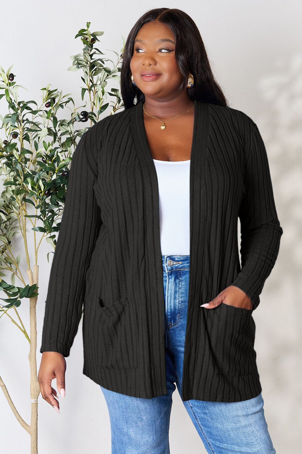
[[[52,387],[51,382],[57,379],[57,389],[62,397],[65,397],[65,371],[66,360],[62,353],[57,351],[43,351],[38,371],[38,384],[41,395],[48,404],[52,405],[55,410],[59,411],[59,402],[54,396],[58,397],[57,391]]]

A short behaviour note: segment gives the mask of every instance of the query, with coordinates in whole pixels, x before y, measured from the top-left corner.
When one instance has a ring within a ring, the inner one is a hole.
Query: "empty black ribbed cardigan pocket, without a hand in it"
[[[101,311],[99,323],[99,348],[102,351],[100,366],[104,369],[136,369],[137,317],[132,299],[123,296],[109,306],[98,299]]]

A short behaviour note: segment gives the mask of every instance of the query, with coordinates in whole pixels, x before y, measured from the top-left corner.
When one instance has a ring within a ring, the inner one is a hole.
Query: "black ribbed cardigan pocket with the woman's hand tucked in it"
[[[257,372],[253,311],[224,303],[214,311],[218,316],[216,332],[212,333],[216,374],[243,376]]]

